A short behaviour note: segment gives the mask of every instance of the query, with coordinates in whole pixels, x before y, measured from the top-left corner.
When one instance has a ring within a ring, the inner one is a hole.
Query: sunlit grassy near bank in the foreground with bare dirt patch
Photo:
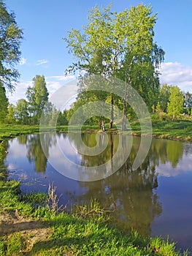
[[[51,193],[21,195],[18,182],[0,181],[0,208],[0,255],[180,255],[161,238],[113,229],[95,201],[58,213]]]

